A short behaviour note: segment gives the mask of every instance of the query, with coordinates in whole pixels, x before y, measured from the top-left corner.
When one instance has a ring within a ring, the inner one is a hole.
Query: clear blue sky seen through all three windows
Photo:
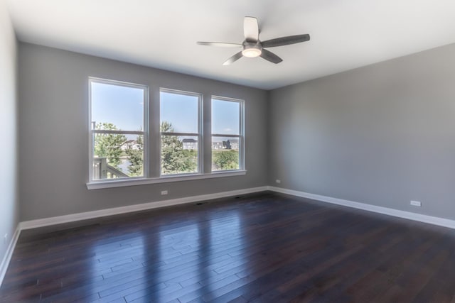
[[[92,82],[92,121],[113,123],[122,131],[139,131],[144,124],[144,91],[134,87]],[[213,99],[212,133],[239,133],[240,104]],[[198,132],[198,97],[160,93],[161,121],[174,131]]]

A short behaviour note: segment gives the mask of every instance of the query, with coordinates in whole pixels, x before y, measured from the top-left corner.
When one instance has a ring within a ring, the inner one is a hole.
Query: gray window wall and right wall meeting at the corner
[[[455,219],[454,53],[447,45],[264,92],[21,43],[21,220],[265,184]],[[247,175],[87,190],[89,76],[147,84],[154,98],[167,87],[245,99]]]

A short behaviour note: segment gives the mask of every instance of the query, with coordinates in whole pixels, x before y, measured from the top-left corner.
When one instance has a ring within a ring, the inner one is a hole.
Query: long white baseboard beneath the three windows
[[[82,212],[82,213],[78,213],[78,214],[68,214],[65,216],[53,216],[53,217],[45,218],[45,219],[23,221],[19,224],[19,228],[21,230],[23,230],[23,229],[37,228],[37,227],[43,227],[43,226],[50,226],[50,225],[55,225],[55,224],[63,224],[63,223],[69,223],[69,222],[74,222],[74,221],[95,219],[95,218],[99,218],[102,216],[126,214],[126,213],[133,212],[133,211],[142,211],[142,210],[146,210],[146,209],[157,209],[157,208],[165,207],[165,206],[173,206],[173,205],[193,203],[193,202],[205,201],[205,200],[211,200],[211,199],[219,199],[219,198],[224,198],[224,197],[232,197],[232,196],[237,196],[239,194],[251,194],[254,192],[264,192],[266,190],[267,190],[267,186],[253,187],[253,188],[247,188],[247,189],[232,190],[230,192],[218,192],[215,194],[202,194],[199,196],[183,197],[183,198],[178,198],[178,199],[169,199],[169,200],[163,200],[163,201],[158,201],[158,202],[149,202],[149,203],[144,203],[144,204],[135,204],[135,205],[129,205],[129,206],[115,207],[112,209],[100,209],[98,211],[87,211],[87,212]]]

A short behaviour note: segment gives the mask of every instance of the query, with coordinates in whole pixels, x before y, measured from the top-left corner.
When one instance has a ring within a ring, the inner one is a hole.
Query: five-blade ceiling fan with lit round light
[[[278,57],[274,53],[266,50],[265,48],[274,48],[275,46],[289,45],[294,43],[301,43],[310,40],[309,34],[304,35],[288,35],[287,37],[274,38],[266,41],[259,40],[259,25],[257,24],[257,18],[245,17],[243,20],[243,34],[245,40],[240,43],[223,43],[223,42],[200,42],[198,45],[208,46],[220,46],[223,48],[242,48],[239,53],[236,53],[223,65],[230,65],[231,63],[239,60],[241,57],[262,57],[263,59],[272,63],[282,62],[282,58]]]

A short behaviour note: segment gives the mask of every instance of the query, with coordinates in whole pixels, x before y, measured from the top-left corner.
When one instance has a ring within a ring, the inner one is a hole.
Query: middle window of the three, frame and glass
[[[200,169],[200,94],[160,90],[161,175]]]

